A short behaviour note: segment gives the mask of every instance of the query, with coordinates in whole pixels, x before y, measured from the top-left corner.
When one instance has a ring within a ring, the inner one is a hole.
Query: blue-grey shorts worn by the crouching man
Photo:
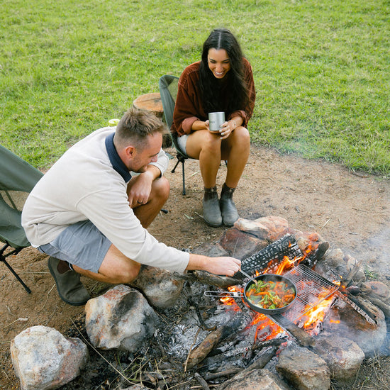
[[[110,246],[110,240],[91,221],[81,221],[68,226],[55,240],[40,245],[38,250],[97,273]]]

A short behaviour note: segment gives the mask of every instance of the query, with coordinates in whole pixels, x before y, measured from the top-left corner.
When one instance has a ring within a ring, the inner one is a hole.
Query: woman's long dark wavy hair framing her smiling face
[[[225,49],[228,53],[230,70],[225,75],[227,80],[223,82],[216,79],[208,67],[207,57],[210,49]],[[226,28],[214,29],[204,42],[199,68],[199,90],[206,113],[213,111],[231,113],[247,105],[249,97],[244,79],[243,52],[238,40]]]

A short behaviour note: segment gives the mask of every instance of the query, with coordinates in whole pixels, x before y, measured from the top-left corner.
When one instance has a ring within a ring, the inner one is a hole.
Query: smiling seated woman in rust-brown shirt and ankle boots
[[[238,219],[233,192],[250,150],[247,123],[255,106],[252,67],[243,57],[234,35],[225,28],[211,32],[201,61],[184,69],[179,79],[172,131],[179,147],[199,160],[204,181],[204,220],[208,225],[232,226]],[[225,112],[219,133],[208,129],[208,113]],[[216,177],[221,160],[227,160],[225,183],[218,201]]]

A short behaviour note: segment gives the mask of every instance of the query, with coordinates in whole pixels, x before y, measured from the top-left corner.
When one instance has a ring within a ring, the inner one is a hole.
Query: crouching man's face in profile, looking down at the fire
[[[143,173],[150,162],[157,161],[157,155],[162,146],[162,134],[148,135],[144,147],[135,149],[133,158],[129,161],[128,169],[133,172]]]

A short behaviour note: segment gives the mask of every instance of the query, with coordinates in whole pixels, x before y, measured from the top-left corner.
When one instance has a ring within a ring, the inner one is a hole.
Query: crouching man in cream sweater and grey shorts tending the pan
[[[84,305],[80,274],[129,283],[140,264],[233,276],[240,260],[189,254],[147,232],[169,196],[162,122],[130,108],[116,128],[101,128],[70,147],[31,191],[22,213],[30,243],[50,255],[60,298]],[[131,175],[135,172],[136,175]]]

